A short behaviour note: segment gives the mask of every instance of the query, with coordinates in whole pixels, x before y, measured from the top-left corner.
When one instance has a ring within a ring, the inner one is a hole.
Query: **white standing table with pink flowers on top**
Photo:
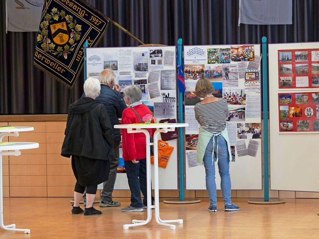
[[[159,217],[159,168],[158,168],[158,135],[159,133],[167,133],[168,131],[175,131],[177,127],[187,127],[188,124],[183,123],[168,123],[168,124],[130,124],[130,125],[115,125],[114,128],[127,129],[128,133],[143,133],[146,137],[146,179],[147,179],[147,219],[146,220],[132,220],[132,224],[124,224],[124,229],[130,227],[142,226],[149,223],[152,219],[152,208],[155,208],[155,220],[159,225],[175,229],[175,225],[168,224],[170,222],[177,222],[183,224],[183,219],[176,220],[161,220]],[[154,143],[150,142],[150,134],[146,129],[160,128],[154,133]],[[154,145],[154,206],[152,206],[152,188],[151,188],[151,151],[150,146]]]

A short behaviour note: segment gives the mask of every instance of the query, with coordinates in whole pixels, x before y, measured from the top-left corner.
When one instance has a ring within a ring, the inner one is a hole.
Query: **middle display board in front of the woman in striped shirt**
[[[194,112],[201,101],[195,86],[204,77],[214,86],[213,95],[228,102],[232,189],[262,189],[260,61],[260,45],[184,46],[186,189],[206,189],[205,168],[195,160],[199,124]]]

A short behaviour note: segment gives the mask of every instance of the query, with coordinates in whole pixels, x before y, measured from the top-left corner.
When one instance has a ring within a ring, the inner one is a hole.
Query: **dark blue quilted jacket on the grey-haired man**
[[[85,94],[82,97],[85,97]],[[114,143],[120,142],[121,130],[115,129],[114,125],[119,124],[118,118],[122,118],[122,112],[127,108],[123,96],[120,92],[111,89],[107,84],[101,84],[100,95],[96,100],[100,101],[108,112],[114,134]]]

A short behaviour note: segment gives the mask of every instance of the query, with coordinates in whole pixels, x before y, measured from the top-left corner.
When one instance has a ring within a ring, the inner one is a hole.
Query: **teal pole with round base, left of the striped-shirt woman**
[[[183,43],[182,38],[177,40],[177,68],[183,65]],[[184,71],[184,69],[182,69]],[[184,123],[184,93],[178,89],[178,123]],[[179,154],[179,198],[164,200],[164,203],[173,204],[187,204],[187,203],[198,203],[200,199],[187,198],[185,199],[184,192],[184,128],[178,128],[178,154]]]

